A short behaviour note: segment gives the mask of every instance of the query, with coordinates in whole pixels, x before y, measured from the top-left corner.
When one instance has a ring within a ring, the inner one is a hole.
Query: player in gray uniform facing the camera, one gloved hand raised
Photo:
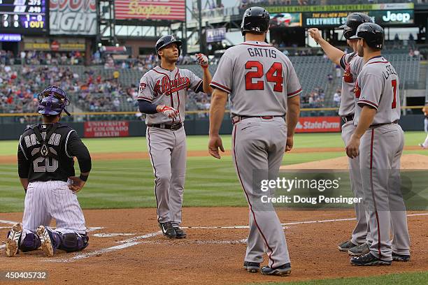
[[[180,229],[181,206],[186,173],[185,99],[187,90],[211,94],[208,58],[197,54],[204,71],[201,80],[192,71],[176,67],[181,42],[163,36],[156,43],[159,66],[143,75],[138,90],[138,106],[147,114],[146,137],[155,174],[157,221],[167,238],[186,238]]]

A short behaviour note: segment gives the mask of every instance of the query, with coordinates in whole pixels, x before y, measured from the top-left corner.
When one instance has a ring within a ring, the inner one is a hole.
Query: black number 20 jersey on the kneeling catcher
[[[50,138],[46,138],[52,128],[56,127]],[[76,156],[80,172],[91,170],[91,156],[75,130],[63,124],[36,124],[43,140],[47,140],[48,149],[37,139],[34,129],[27,129],[20,136],[18,145],[18,173],[21,178],[29,182],[61,180],[66,182],[68,177],[74,176],[74,160]],[[50,152],[52,156],[41,156]]]

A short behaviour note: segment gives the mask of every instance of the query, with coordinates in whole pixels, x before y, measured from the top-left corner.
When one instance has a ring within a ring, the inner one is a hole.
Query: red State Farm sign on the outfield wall
[[[340,117],[300,117],[296,133],[331,133],[341,131]]]

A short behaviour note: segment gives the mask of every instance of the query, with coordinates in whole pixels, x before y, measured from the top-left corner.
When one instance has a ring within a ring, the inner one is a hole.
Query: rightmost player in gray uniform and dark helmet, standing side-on
[[[400,118],[399,78],[394,67],[380,55],[383,29],[364,23],[357,29],[357,49],[364,66],[355,83],[357,108],[346,153],[359,154],[364,205],[370,224],[370,252],[351,258],[352,265],[390,265],[410,260],[406,208],[399,189],[404,132]],[[394,239],[390,239],[390,227]]]

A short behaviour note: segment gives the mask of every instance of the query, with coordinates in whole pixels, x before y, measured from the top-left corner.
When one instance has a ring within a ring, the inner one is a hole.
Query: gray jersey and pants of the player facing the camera
[[[140,80],[137,100],[167,105],[179,112],[174,121],[162,113],[148,114],[145,119],[159,223],[171,221],[173,226],[180,225],[186,173],[185,129],[181,127],[173,131],[164,129],[164,126],[184,122],[187,89],[198,92],[201,85],[201,78],[192,71],[179,68],[169,71],[160,66],[145,73]]]

